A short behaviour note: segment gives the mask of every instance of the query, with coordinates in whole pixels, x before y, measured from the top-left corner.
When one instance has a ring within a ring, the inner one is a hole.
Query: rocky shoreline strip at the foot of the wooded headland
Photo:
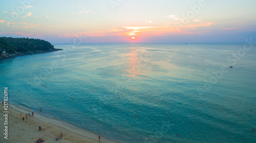
[[[45,52],[52,52],[52,51],[58,51],[58,50],[63,50],[63,49],[51,49],[51,50],[48,50],[48,51],[28,51],[28,52],[25,52],[25,53],[22,53],[22,52],[16,52],[15,53],[8,53],[8,54],[5,54],[5,55],[2,55],[0,54],[0,61],[2,60],[7,60],[7,59],[11,59],[11,58],[15,58],[17,56],[24,56],[24,55],[28,55],[28,54],[35,54],[35,53],[45,53]]]

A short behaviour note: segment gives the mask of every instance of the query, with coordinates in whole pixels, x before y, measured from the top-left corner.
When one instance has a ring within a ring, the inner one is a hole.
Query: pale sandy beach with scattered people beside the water
[[[4,109],[4,105],[2,105]],[[35,142],[38,138],[42,138],[44,142],[99,142],[98,135],[87,130],[79,129],[71,124],[50,119],[41,116],[34,111],[34,117],[31,115],[33,110],[21,108],[18,106],[8,106],[8,139],[4,138],[4,112],[0,113],[1,116],[1,134],[0,142]],[[25,118],[20,117],[20,113]],[[26,113],[30,113],[26,119]],[[42,130],[39,131],[39,126]],[[62,138],[55,140],[60,136]],[[100,142],[113,142],[101,136]]]

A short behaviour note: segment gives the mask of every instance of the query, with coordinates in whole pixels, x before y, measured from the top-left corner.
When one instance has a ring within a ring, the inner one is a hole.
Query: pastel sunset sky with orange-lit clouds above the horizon
[[[209,43],[256,39],[256,1],[20,0],[0,2],[0,36],[53,44]]]

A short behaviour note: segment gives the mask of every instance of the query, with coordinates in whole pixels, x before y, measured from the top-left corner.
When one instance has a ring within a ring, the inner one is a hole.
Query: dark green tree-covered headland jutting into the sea
[[[50,42],[41,39],[0,37],[0,60],[57,50],[62,49],[55,49]]]

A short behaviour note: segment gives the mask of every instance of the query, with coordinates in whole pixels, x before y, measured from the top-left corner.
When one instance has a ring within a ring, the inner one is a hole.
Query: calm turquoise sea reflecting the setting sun
[[[255,142],[256,50],[243,45],[55,44],[1,61],[1,91],[117,142]]]

